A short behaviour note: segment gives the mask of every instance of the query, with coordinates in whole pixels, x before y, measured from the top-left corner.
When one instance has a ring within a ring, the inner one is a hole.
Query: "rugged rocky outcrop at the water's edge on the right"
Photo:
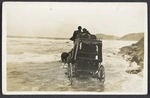
[[[128,73],[138,73],[143,69],[144,62],[144,37],[137,43],[131,46],[125,46],[120,48],[119,52],[123,58],[129,61]]]

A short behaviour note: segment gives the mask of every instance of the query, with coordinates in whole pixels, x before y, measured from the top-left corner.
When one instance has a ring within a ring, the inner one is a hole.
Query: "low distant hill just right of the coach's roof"
[[[114,36],[114,35],[105,35],[102,33],[96,34],[97,38],[102,38],[103,40],[117,40],[119,37]]]

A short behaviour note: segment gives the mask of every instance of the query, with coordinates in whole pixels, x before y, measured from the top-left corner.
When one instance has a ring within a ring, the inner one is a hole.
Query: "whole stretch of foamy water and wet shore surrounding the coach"
[[[7,90],[8,91],[90,91],[90,92],[143,92],[143,72],[127,73],[129,62],[124,60],[119,48],[137,41],[102,41],[102,65],[105,83],[99,86],[95,78],[74,78],[70,85],[66,68],[60,62],[62,52],[73,48],[70,40],[40,38],[7,38]]]

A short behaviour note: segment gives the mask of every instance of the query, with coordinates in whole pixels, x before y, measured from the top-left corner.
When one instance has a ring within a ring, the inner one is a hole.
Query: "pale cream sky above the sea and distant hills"
[[[9,36],[69,38],[80,25],[91,34],[145,32],[146,3],[5,2]]]

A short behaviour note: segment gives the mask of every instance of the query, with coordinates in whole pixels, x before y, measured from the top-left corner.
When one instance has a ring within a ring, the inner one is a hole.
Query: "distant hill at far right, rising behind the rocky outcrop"
[[[119,40],[133,40],[133,41],[138,41],[143,36],[144,36],[144,33],[130,33],[130,34],[124,35]]]

